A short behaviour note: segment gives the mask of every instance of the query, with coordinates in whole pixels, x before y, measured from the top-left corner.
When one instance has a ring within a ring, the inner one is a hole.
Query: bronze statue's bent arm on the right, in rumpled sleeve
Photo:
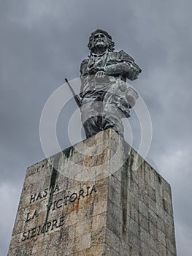
[[[123,50],[120,50],[117,57],[116,63],[106,65],[103,71],[107,75],[123,75],[130,80],[137,79],[142,70],[134,62],[134,59]]]

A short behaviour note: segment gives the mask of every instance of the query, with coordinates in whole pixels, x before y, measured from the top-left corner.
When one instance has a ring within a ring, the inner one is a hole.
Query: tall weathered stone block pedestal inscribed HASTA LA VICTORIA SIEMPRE
[[[169,184],[108,129],[28,167],[9,256],[174,256]]]

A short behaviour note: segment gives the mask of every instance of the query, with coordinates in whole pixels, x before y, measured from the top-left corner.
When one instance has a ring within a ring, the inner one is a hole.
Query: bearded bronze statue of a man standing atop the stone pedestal
[[[114,46],[106,31],[93,31],[88,42],[90,56],[80,65],[80,110],[87,138],[108,128],[123,137],[122,118],[130,116],[138,97],[126,85],[126,78],[137,79],[141,69],[131,56],[115,51]]]

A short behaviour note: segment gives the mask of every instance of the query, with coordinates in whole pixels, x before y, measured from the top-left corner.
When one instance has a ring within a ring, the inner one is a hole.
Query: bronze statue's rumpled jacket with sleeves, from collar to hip
[[[96,72],[101,70],[106,73],[106,78],[102,81],[96,80]],[[80,65],[82,103],[87,104],[91,100],[98,100],[102,95],[101,100],[117,105],[128,116],[128,106],[131,106],[130,100],[128,100],[130,93],[128,88],[126,91],[122,90],[122,83],[125,85],[127,78],[129,80],[137,79],[140,72],[141,69],[134,59],[123,50],[107,51],[100,56],[92,53],[89,59],[83,60]]]

